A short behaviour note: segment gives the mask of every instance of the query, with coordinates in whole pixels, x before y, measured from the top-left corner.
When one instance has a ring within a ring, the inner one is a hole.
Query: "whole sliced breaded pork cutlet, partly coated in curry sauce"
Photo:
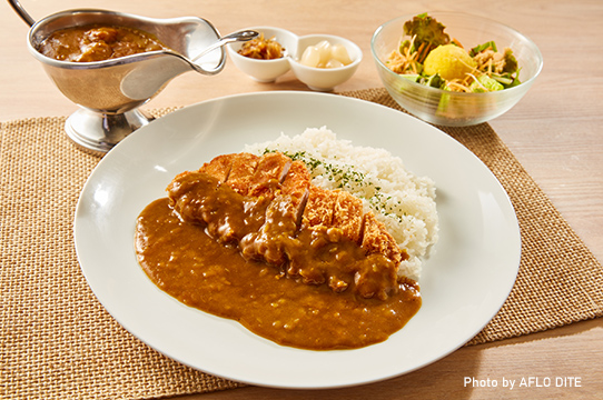
[[[336,292],[355,284],[360,296],[384,299],[408,258],[360,199],[312,184],[303,162],[278,152],[223,156],[170,188],[175,210],[205,221],[218,241],[235,240],[246,259],[308,284]]]

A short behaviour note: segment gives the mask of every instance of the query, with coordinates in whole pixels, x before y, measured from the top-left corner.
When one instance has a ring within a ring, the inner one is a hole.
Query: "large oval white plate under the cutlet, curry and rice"
[[[238,322],[160,291],[134,251],[139,212],[177,173],[246,143],[326,126],[339,139],[382,147],[437,187],[441,239],[425,263],[423,307],[383,343],[357,350],[281,347]],[[75,219],[81,269],[105,308],[161,353],[227,379],[279,388],[334,388],[396,377],[471,340],[507,298],[520,264],[513,207],[490,170],[444,132],[399,111],[335,94],[264,92],[216,99],[141,128],[86,183]]]

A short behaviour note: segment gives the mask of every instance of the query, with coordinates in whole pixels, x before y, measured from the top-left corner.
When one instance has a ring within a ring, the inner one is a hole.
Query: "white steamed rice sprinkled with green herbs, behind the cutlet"
[[[421,278],[423,261],[438,238],[435,186],[429,178],[414,176],[387,150],[355,147],[348,140],[338,140],[325,127],[308,128],[293,138],[281,134],[244,149],[255,154],[266,150],[304,161],[314,184],[346,190],[362,199],[364,211],[373,211],[399,248],[408,252],[409,259],[402,262],[399,273]]]

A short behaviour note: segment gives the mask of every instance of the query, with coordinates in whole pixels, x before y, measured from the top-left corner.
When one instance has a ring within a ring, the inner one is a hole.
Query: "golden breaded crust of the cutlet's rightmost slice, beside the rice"
[[[364,216],[360,247],[365,249],[367,254],[380,253],[394,261],[396,266],[408,258],[406,251],[403,252],[399,249],[394,237],[373,212],[367,212]]]

